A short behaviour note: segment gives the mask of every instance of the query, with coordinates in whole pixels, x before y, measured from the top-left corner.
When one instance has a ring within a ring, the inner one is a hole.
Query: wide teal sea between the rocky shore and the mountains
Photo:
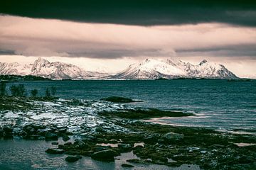
[[[144,101],[132,104],[138,107],[196,113],[189,118],[157,120],[160,123],[256,130],[256,81],[34,81],[22,84],[29,90],[38,89],[42,96],[47,86],[55,86],[60,98],[97,100],[124,96]]]

